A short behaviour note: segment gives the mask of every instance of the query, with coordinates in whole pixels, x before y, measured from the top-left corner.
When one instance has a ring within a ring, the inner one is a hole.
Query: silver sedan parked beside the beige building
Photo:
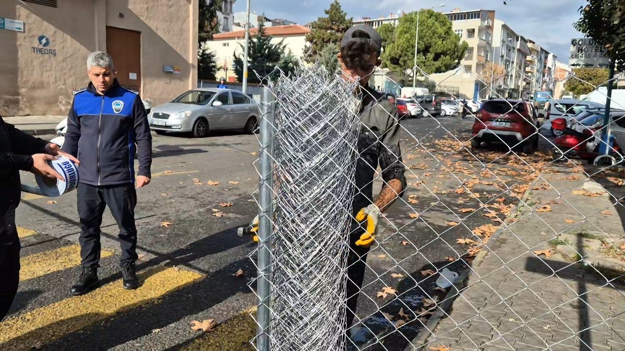
[[[240,91],[197,88],[153,107],[148,121],[156,134],[192,132],[195,137],[206,137],[209,131],[223,129],[242,129],[252,134],[259,116],[258,104]]]

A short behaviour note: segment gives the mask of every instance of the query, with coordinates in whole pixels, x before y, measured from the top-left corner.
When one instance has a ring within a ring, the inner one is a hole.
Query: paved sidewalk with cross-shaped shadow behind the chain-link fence
[[[574,169],[534,180],[423,350],[625,350],[622,173]]]

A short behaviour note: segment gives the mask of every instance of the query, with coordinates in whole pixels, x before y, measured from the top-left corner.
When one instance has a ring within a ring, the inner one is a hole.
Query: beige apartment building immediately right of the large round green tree
[[[462,69],[432,74],[430,78],[442,86],[453,87],[462,98],[489,96],[482,75],[486,62],[492,60],[495,11],[461,11],[456,8],[444,14],[451,21],[454,32],[469,44],[469,48],[461,61]]]

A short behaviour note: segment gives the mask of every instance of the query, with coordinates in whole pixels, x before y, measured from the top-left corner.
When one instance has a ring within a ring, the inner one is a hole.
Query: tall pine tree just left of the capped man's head
[[[306,50],[307,56],[312,59],[319,57],[327,44],[339,44],[343,34],[353,25],[352,17],[347,18],[338,0],[334,0],[324,12],[327,17],[312,22],[312,31],[306,34],[306,42],[311,43]]]

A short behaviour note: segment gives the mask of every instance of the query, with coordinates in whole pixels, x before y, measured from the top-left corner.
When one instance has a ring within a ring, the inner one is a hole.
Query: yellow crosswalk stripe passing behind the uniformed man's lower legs
[[[109,257],[113,252],[102,250],[101,258]],[[39,252],[22,257],[19,263],[19,280],[24,281],[41,277],[52,272],[68,269],[80,264],[80,245],[59,247],[58,249]]]

